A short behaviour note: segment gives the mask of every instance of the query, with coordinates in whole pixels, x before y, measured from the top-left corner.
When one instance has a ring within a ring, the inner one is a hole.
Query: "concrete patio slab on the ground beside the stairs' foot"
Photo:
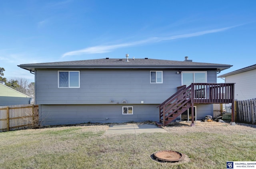
[[[139,133],[154,133],[166,132],[162,128],[158,128],[154,124],[128,124],[110,126],[105,134],[139,134]]]

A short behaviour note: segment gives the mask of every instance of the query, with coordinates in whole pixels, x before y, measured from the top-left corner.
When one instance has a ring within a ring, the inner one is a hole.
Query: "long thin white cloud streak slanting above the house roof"
[[[64,53],[62,57],[66,56],[73,56],[73,55],[82,55],[82,54],[93,54],[93,53],[108,53],[111,52],[114,49],[122,48],[122,47],[131,47],[136,45],[142,45],[146,43],[158,43],[160,41],[166,41],[166,40],[173,40],[173,39],[181,39],[181,38],[188,38],[188,37],[196,37],[201,36],[209,33],[217,33],[221,31],[225,31],[231,28],[234,28],[237,26],[231,26],[226,28],[220,28],[220,29],[212,29],[212,30],[206,30],[206,31],[199,31],[195,33],[187,33],[182,35],[173,35],[169,37],[152,37],[149,39],[141,40],[141,41],[134,41],[130,43],[121,43],[116,45],[98,45],[93,47],[87,47],[85,49],[77,50],[77,51],[70,51],[67,53]]]

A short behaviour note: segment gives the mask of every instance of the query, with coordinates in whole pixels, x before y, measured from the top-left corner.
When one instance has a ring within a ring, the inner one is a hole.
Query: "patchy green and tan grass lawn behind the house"
[[[0,169],[223,169],[256,161],[256,128],[215,122],[166,127],[167,133],[104,134],[108,126],[70,126],[0,133]],[[188,163],[158,163],[174,150]]]

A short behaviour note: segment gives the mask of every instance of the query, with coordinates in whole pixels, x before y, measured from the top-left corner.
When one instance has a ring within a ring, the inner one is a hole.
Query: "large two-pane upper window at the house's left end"
[[[58,71],[59,88],[79,88],[80,71]]]

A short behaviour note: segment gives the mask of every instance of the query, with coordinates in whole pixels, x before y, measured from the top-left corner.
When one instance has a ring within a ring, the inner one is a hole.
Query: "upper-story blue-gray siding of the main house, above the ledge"
[[[58,70],[37,70],[36,104],[160,104],[181,85],[181,74],[163,70],[163,83],[154,84],[150,70],[80,70],[80,88],[58,88]],[[216,83],[216,71],[207,75]]]

